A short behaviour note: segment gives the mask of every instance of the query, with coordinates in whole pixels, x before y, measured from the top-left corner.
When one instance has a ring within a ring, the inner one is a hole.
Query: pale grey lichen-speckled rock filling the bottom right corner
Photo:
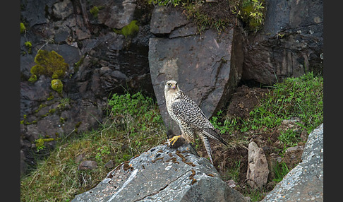
[[[292,169],[262,201],[323,201],[324,124],[308,136],[302,162]]]

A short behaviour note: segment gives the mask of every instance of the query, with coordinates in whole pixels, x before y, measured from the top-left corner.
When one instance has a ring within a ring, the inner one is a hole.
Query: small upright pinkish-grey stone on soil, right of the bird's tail
[[[267,184],[269,169],[267,158],[262,148],[259,148],[255,142],[248,145],[248,171],[246,172],[246,179],[248,184],[256,188],[262,188]]]

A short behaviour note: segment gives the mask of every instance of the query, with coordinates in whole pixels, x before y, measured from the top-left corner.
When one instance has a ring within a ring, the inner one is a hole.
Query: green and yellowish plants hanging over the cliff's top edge
[[[239,18],[247,31],[257,31],[265,21],[264,0],[227,0],[207,3],[195,0],[150,0],[149,4],[160,6],[181,6],[186,16],[193,20],[199,32],[205,28],[214,28],[218,32],[230,24],[236,24]]]

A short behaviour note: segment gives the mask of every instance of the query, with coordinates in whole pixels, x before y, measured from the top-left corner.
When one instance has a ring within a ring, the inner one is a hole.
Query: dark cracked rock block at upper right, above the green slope
[[[323,1],[266,1],[263,30],[244,45],[242,79],[281,82],[323,72]]]

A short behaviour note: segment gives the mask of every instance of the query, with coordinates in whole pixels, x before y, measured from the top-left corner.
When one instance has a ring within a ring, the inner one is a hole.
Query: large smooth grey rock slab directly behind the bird
[[[153,13],[151,29],[155,33],[170,34],[172,30],[189,23],[181,11],[172,7],[157,6]],[[162,22],[156,19],[158,16],[164,16]],[[178,17],[175,20],[172,16]],[[188,30],[180,30],[178,35],[189,34],[185,32]],[[150,75],[162,119],[168,129],[179,133],[179,126],[169,117],[165,107],[165,82],[177,81],[181,90],[210,118],[229,100],[241,78],[243,58],[240,37],[238,28],[227,28],[220,35],[214,30],[205,30],[202,35],[150,38]]]

